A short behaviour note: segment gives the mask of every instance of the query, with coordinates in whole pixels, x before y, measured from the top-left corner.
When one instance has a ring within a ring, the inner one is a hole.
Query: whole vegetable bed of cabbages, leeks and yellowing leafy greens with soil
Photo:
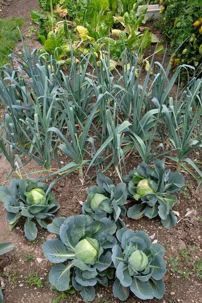
[[[39,1],[45,18],[33,2],[45,51],[22,38],[2,69],[4,303],[202,302],[202,80],[169,71],[160,30],[122,2],[92,1],[96,31],[80,24],[90,2],[68,0],[68,16]]]

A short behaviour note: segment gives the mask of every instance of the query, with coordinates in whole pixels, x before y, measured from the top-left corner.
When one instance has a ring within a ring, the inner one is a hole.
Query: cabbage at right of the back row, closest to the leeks
[[[142,162],[124,177],[129,195],[142,201],[132,206],[127,216],[135,219],[144,214],[151,219],[159,215],[163,226],[171,229],[177,222],[172,211],[177,196],[173,193],[184,186],[184,177],[178,172],[166,170],[165,159],[154,159],[153,163],[154,168]]]

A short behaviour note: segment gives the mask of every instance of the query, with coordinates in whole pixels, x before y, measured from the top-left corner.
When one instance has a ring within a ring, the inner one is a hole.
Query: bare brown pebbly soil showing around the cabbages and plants
[[[22,16],[27,22],[22,31],[25,35],[30,23],[30,11],[37,9],[38,0],[6,0],[1,4],[0,17],[10,16]],[[156,33],[157,35],[159,32]],[[37,47],[34,39],[32,40],[32,46]],[[149,54],[148,54],[149,55]],[[169,59],[168,59],[169,60]],[[0,117],[3,117],[3,112],[0,113]],[[136,167],[140,163],[140,159],[134,158],[134,152],[126,161],[127,173]],[[171,167],[172,169],[173,167]],[[35,163],[29,163],[26,166],[26,170],[37,171],[39,167]],[[0,175],[1,182],[6,181],[7,173],[10,171],[10,166],[7,162],[4,163],[4,159],[0,158]],[[113,172],[113,169],[110,169]],[[93,176],[95,172],[90,170],[87,178]],[[118,178],[108,172],[108,175],[113,179],[115,183],[118,183]],[[34,175],[38,177],[39,175]],[[201,227],[202,222],[199,220],[202,216],[202,199],[201,191],[195,192],[196,184],[191,179],[190,175],[185,174],[185,180],[188,181],[188,187],[184,193],[178,195],[178,203],[175,205],[174,210],[178,211],[180,218],[183,218],[172,229],[166,230],[158,219],[148,220],[143,217],[139,220],[124,218],[124,222],[127,227],[132,230],[144,230],[153,240],[158,240],[159,243],[166,247],[165,260],[167,261],[167,274],[165,276],[166,293],[163,299],[146,300],[148,303],[199,303],[202,302],[202,281],[196,277],[196,271],[193,270],[192,264],[202,259],[202,236]],[[49,180],[47,180],[49,182]],[[87,181],[87,179],[86,179]],[[61,205],[60,211],[57,216],[72,216],[75,214],[81,214],[81,205],[79,201],[86,199],[87,188],[95,184],[95,180],[90,183],[81,186],[78,175],[72,173],[70,176],[61,180],[58,184],[54,185],[53,192],[56,195],[57,201]],[[130,201],[129,201],[130,203]],[[127,207],[129,207],[127,205]],[[188,210],[193,210],[190,217],[185,217]],[[5,296],[5,303],[52,303],[53,299],[59,296],[59,293],[49,289],[46,284],[49,269],[52,264],[45,260],[43,252],[41,250],[41,243],[46,239],[51,238],[53,235],[46,230],[38,227],[38,236],[36,241],[28,241],[24,236],[23,221],[14,228],[11,232],[8,229],[8,223],[6,221],[6,210],[0,208],[0,241],[12,241],[16,244],[15,249],[8,253],[6,256],[1,257],[0,262],[0,275],[5,282],[5,289],[3,293]],[[188,264],[185,262],[180,254],[180,247],[184,250],[187,247],[191,248],[190,260]],[[195,248],[194,248],[195,247]],[[25,255],[31,254],[35,260],[25,261]],[[170,257],[171,256],[171,259]],[[36,258],[41,258],[42,262],[38,264]],[[173,263],[173,259],[178,258],[178,261]],[[180,265],[176,265],[180,263]],[[181,273],[173,272],[175,266],[177,270],[181,270]],[[190,271],[188,278],[182,277],[186,270]],[[37,273],[43,282],[43,286],[38,288],[37,286],[30,286],[25,282],[25,277],[30,273]],[[95,289],[96,298],[93,302],[97,303],[120,303],[121,301],[114,298],[112,295],[112,283],[108,288],[98,286]],[[98,294],[98,295],[97,295]],[[101,296],[100,299],[98,297]],[[60,302],[66,303],[81,303],[81,297],[79,293],[69,295],[67,299]],[[143,300],[136,298],[132,293],[130,294],[127,303],[143,303]]]

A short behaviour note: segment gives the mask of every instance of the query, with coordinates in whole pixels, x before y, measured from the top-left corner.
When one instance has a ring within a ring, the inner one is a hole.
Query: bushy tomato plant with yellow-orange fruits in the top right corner
[[[171,51],[179,46],[171,67],[180,64],[198,67],[201,71],[201,3],[200,0],[163,0],[163,18],[159,20]],[[189,68],[189,67],[188,67]],[[192,72],[192,70],[189,70]]]

